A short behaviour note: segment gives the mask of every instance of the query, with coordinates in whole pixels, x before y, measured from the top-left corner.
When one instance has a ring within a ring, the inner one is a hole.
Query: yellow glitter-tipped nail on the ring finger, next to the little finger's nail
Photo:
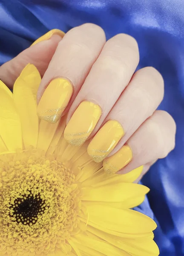
[[[107,121],[89,143],[87,152],[99,163],[115,148],[124,135],[121,124],[115,120]]]

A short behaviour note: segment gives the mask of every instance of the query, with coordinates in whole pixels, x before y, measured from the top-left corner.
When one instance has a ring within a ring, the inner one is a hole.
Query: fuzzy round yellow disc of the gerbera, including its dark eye
[[[80,182],[69,163],[59,159],[32,148],[0,155],[0,246],[7,248],[3,255],[13,255],[12,245],[26,255],[51,255],[86,229],[80,219],[86,218]]]

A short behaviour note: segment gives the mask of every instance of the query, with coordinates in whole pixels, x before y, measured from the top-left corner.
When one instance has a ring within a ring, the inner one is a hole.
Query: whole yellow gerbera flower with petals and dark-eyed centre
[[[29,64],[14,93],[0,82],[0,255],[157,256],[155,222],[130,209],[149,191],[141,168],[106,176],[63,139],[65,117],[39,120],[40,80]]]

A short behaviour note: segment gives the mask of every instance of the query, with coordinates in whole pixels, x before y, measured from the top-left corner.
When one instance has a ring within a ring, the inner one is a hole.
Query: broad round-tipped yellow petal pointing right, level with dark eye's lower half
[[[131,209],[108,206],[88,206],[89,224],[94,223],[120,233],[148,233],[155,230],[155,222],[148,216]]]

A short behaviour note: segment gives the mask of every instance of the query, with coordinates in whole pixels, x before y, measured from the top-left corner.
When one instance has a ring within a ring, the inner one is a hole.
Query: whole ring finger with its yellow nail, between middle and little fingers
[[[153,67],[138,70],[89,144],[89,156],[95,162],[100,162],[118,151],[152,115],[163,95],[161,74]]]

